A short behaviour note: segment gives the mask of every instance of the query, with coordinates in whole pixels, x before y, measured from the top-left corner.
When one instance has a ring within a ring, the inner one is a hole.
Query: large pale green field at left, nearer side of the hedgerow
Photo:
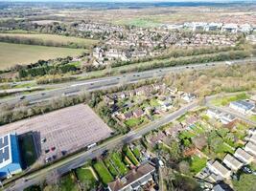
[[[20,45],[0,42],[0,70],[8,69],[16,64],[30,64],[39,59],[47,60],[57,57],[76,56],[83,49]]]

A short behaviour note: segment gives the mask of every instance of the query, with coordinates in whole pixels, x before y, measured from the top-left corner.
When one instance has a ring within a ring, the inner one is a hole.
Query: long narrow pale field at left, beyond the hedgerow
[[[73,36],[64,36],[57,34],[44,34],[44,33],[25,33],[25,32],[12,32],[12,33],[0,33],[0,36],[9,36],[9,37],[22,37],[26,39],[38,39],[43,42],[53,42],[53,43],[61,43],[64,45],[70,43],[76,43],[80,46],[89,47],[91,45],[96,44],[97,40],[86,39],[86,38],[78,38]]]

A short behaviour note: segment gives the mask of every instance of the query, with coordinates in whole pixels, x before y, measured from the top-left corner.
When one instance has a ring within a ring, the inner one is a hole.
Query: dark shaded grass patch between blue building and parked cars
[[[23,167],[31,166],[37,159],[33,135],[27,134],[18,139]]]

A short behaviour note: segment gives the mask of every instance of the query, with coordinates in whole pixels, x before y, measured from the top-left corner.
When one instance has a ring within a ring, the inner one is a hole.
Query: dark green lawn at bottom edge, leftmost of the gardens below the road
[[[73,174],[69,173],[60,179],[61,191],[79,191],[79,186]]]

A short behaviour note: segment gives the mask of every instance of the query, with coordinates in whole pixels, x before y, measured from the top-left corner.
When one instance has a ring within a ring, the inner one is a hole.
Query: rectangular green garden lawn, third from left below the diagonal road
[[[107,170],[107,168],[105,167],[105,164],[102,160],[97,161],[94,165],[93,165],[94,169],[96,170],[96,172],[98,173],[99,177],[101,178],[101,180],[107,184],[108,182],[114,180],[113,177],[111,176],[111,174],[109,173],[109,171]]]

